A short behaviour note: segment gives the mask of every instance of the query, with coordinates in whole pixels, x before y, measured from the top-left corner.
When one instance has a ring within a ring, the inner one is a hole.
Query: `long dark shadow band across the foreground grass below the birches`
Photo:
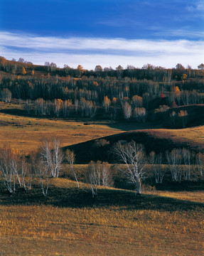
[[[0,205],[45,205],[54,207],[69,208],[87,208],[99,207],[105,208],[116,206],[128,210],[196,210],[203,209],[203,203],[191,201],[182,201],[175,198],[167,198],[156,195],[142,194],[137,196],[133,191],[99,189],[97,198],[92,198],[92,192],[88,188],[56,188],[50,187],[48,196],[43,196],[41,191],[33,188],[28,193],[18,190],[9,195],[1,191]]]

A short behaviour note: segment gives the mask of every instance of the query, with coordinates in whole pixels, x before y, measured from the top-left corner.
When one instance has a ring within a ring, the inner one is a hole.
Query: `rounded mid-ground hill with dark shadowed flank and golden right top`
[[[159,153],[183,147],[203,152],[204,127],[134,130],[93,139],[89,142],[65,147],[64,149],[69,148],[75,151],[78,164],[87,164],[91,160],[113,162],[114,159],[110,153],[112,146],[118,141],[130,142],[131,140],[144,144],[147,153],[151,151]]]

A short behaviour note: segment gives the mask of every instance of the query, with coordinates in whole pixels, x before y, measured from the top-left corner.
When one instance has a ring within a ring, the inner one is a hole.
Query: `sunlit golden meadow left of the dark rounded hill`
[[[0,124],[1,148],[9,145],[18,148],[21,154],[36,151],[43,139],[58,137],[61,146],[68,146],[120,132],[109,127],[111,122],[91,122],[84,125],[84,122],[75,120],[38,119],[2,113],[0,119],[4,121],[4,126]]]

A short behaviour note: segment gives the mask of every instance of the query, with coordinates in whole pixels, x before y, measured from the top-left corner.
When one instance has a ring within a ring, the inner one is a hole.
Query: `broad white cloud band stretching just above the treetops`
[[[203,62],[204,41],[149,41],[124,38],[55,38],[0,32],[0,55],[24,58],[35,64],[45,61],[87,69],[95,65],[112,68],[122,65],[141,67],[146,63],[175,67],[177,63],[193,68]]]

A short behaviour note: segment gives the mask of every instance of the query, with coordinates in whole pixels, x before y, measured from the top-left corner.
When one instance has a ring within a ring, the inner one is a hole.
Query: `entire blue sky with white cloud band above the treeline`
[[[0,0],[0,55],[91,70],[204,63],[204,0]]]

